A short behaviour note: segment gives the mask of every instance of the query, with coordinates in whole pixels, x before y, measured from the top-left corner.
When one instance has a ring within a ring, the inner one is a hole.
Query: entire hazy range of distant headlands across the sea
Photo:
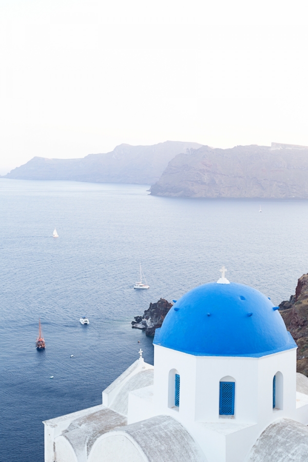
[[[34,157],[3,178],[150,184],[151,195],[308,199],[308,147],[272,143],[229,149],[166,141],[121,144],[83,159]]]

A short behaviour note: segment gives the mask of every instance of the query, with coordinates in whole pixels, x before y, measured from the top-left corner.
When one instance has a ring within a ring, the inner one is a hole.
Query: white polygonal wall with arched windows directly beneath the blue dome
[[[171,406],[175,373],[180,375],[178,415]],[[277,402],[273,410],[275,374]],[[219,415],[220,381],[235,382],[234,416]],[[296,408],[296,349],[244,358],[192,356],[155,345],[154,402],[159,412],[180,421],[230,419],[258,422],[263,427],[280,416],[292,418]]]

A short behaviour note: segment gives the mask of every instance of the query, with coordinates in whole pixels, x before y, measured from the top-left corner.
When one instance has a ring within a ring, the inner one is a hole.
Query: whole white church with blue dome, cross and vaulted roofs
[[[103,391],[46,420],[45,462],[307,462],[308,378],[277,306],[221,278],[194,288]]]

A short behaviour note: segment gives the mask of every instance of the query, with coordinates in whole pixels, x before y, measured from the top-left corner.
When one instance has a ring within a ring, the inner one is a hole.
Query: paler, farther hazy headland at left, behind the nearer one
[[[200,146],[198,143],[166,141],[153,146],[121,144],[111,152],[89,154],[83,159],[34,157],[4,178],[152,184],[158,181],[168,162],[177,154]]]

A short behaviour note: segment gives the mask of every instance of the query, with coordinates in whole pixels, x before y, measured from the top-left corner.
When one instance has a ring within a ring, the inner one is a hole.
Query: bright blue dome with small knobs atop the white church
[[[198,356],[260,357],[296,348],[273,308],[247,285],[200,285],[172,306],[153,343]]]

